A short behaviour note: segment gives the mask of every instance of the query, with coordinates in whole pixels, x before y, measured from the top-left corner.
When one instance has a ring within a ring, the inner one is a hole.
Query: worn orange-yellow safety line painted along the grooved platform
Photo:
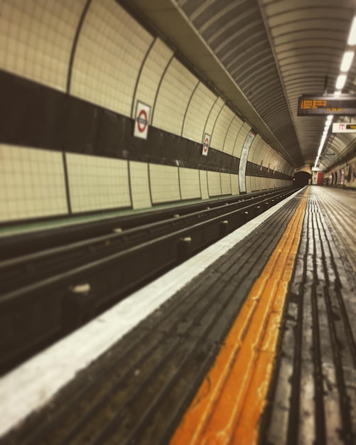
[[[257,443],[307,193],[254,283],[171,445]]]

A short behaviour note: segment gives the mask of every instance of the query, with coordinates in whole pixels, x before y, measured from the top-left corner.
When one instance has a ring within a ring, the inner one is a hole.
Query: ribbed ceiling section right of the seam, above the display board
[[[355,1],[260,0],[260,5],[304,163],[313,165],[325,118],[298,117],[298,97],[323,94],[325,76],[328,76],[329,92],[334,92],[355,14]],[[337,140],[334,138],[332,144],[334,141],[337,144]]]

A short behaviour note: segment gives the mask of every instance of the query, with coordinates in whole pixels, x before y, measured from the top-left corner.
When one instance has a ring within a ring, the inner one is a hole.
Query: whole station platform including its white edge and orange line
[[[5,375],[0,443],[355,444],[355,198],[303,188]]]

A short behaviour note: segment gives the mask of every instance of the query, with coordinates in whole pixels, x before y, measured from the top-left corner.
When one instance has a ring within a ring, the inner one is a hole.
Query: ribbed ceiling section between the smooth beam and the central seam
[[[258,1],[189,0],[180,7],[296,166],[303,165]]]

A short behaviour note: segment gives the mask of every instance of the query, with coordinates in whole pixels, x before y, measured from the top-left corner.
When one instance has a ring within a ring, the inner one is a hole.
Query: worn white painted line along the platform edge
[[[41,409],[78,372],[300,192],[301,189],[4,375],[0,380],[0,437],[31,412]]]

